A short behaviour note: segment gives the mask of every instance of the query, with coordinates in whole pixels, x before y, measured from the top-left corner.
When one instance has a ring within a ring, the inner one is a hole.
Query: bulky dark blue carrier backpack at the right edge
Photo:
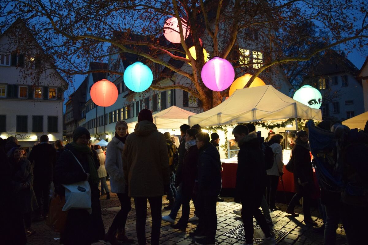
[[[358,170],[351,167],[348,162],[354,159],[351,147],[359,146],[361,152],[368,154],[368,142],[349,140],[348,134],[355,133],[357,136],[358,130],[349,130],[344,125],[334,125],[335,133],[316,127],[311,120],[307,126],[309,144],[314,156],[312,162],[320,187],[329,192],[341,192],[342,197],[345,196],[345,201],[348,202],[354,199],[365,199],[367,202],[368,179],[358,178]]]

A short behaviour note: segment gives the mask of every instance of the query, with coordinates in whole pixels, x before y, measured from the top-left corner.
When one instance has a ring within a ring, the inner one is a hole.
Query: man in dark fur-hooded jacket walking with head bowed
[[[266,167],[255,131],[238,125],[233,130],[234,140],[240,148],[236,172],[235,201],[241,202],[246,244],[253,244],[253,216],[265,233],[261,244],[276,244],[259,206],[266,188]]]

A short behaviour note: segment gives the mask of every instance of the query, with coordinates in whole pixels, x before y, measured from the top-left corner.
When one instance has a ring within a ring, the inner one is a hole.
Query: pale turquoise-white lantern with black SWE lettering
[[[298,89],[295,92],[293,99],[314,109],[319,109],[322,104],[322,94],[318,89],[315,89],[310,85],[304,85]]]

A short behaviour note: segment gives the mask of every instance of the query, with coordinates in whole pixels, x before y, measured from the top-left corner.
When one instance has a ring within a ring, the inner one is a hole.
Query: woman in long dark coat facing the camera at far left
[[[13,186],[15,197],[21,204],[20,212],[23,213],[26,235],[36,232],[31,230],[31,215],[38,208],[35,192],[33,191],[33,171],[31,162],[23,158],[21,149],[13,147],[8,151],[10,164],[13,166]]]

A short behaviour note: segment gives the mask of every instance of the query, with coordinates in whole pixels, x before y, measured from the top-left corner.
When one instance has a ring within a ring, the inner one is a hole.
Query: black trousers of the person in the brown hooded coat
[[[135,212],[137,215],[136,230],[139,245],[146,244],[146,219],[147,219],[147,199],[151,207],[152,230],[151,244],[158,245],[160,242],[161,230],[161,209],[162,196],[159,197],[134,197]]]

